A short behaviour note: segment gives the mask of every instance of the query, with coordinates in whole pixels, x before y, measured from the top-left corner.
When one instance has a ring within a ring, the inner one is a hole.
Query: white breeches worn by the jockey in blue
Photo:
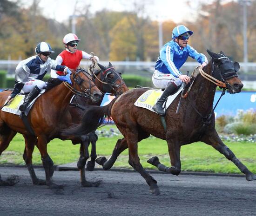
[[[156,88],[166,88],[171,82],[174,82],[177,86],[182,85],[181,79],[173,76],[171,73],[162,73],[158,70],[155,70],[152,76],[152,82]]]

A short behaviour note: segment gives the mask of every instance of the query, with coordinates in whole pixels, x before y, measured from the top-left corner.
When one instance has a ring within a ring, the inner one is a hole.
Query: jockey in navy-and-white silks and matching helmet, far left
[[[7,102],[13,99],[22,90],[29,92],[24,104],[20,105],[20,111],[24,111],[27,105],[39,94],[40,90],[46,86],[46,82],[42,81],[44,75],[50,69],[67,73],[68,67],[59,65],[55,60],[49,58],[54,52],[51,46],[46,42],[40,42],[35,47],[37,55],[22,60],[15,70],[15,85],[13,92],[7,98]]]

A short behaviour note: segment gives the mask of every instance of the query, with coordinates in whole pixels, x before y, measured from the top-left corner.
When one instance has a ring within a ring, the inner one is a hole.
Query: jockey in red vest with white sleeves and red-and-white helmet
[[[93,62],[98,62],[97,56],[91,57],[87,52],[77,50],[77,45],[80,39],[73,34],[68,33],[63,38],[63,44],[66,50],[62,51],[56,58],[56,62],[60,65],[67,65],[70,69],[76,70],[79,66],[81,59],[89,59]],[[66,75],[65,73],[52,70],[51,77],[58,78],[59,76]]]

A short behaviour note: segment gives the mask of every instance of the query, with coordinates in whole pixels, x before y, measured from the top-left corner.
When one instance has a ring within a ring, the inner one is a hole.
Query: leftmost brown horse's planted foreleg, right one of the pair
[[[38,144],[38,149],[41,154],[41,160],[42,164],[45,170],[45,176],[46,176],[46,184],[51,188],[51,189],[61,189],[63,188],[63,185],[57,185],[52,181],[52,176],[53,176],[53,161],[50,158],[50,156],[47,153],[47,137],[45,136],[39,136],[37,140]]]

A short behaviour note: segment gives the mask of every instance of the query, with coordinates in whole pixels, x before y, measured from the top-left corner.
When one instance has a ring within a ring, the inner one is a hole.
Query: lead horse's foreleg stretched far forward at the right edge
[[[245,174],[247,181],[256,180],[256,175],[253,174],[236,156],[235,154],[222,142],[216,130],[202,137],[202,142],[211,145],[217,151],[222,153],[227,159],[232,161],[237,168]]]

